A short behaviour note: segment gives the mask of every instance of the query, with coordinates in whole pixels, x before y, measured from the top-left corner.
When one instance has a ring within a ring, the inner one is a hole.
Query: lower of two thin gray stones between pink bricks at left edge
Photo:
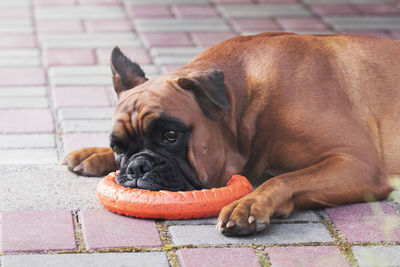
[[[0,109],[2,108],[47,108],[49,101],[43,96],[29,97],[2,97],[0,98]]]

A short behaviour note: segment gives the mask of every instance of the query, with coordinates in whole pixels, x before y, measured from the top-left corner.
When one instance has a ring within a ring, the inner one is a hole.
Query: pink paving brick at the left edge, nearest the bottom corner
[[[1,214],[3,253],[75,250],[70,211],[9,211]]]

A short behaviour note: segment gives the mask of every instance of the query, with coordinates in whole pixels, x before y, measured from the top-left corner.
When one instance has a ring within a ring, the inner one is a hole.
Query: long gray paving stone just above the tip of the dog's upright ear
[[[107,48],[137,47],[139,39],[133,33],[39,34],[40,43],[47,48]]]

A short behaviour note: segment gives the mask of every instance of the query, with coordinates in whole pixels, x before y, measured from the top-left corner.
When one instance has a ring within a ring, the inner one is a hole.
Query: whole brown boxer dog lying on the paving
[[[263,181],[223,208],[225,235],[295,208],[382,200],[400,174],[399,41],[265,33],[153,80],[118,48],[111,68],[111,148],[65,163],[82,175],[119,169],[118,184],[150,190],[221,187],[237,173]]]

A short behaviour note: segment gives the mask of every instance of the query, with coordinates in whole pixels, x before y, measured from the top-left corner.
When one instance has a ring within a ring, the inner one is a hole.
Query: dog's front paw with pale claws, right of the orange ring
[[[273,211],[261,196],[243,197],[225,206],[218,217],[217,230],[226,236],[261,232],[269,224]]]

